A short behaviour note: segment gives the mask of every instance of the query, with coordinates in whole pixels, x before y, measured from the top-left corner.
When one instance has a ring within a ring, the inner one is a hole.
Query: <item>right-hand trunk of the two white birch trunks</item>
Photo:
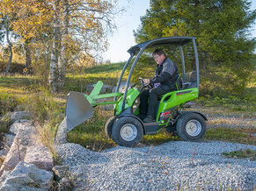
[[[69,0],[63,0],[64,10],[63,10],[63,29],[62,34],[62,46],[59,62],[59,88],[63,88],[66,83],[66,67],[68,65],[68,55],[67,46],[69,38]]]

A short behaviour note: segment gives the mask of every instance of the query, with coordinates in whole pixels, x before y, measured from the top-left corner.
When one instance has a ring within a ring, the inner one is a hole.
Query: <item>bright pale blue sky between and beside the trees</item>
[[[135,46],[133,31],[136,31],[141,25],[140,18],[150,8],[150,0],[119,0],[117,6],[125,8],[126,11],[116,16],[117,30],[108,37],[109,47],[104,54],[104,60],[110,60],[112,63],[128,60],[129,53],[127,51],[131,46]],[[252,0],[253,9],[256,9],[255,0]],[[256,37],[256,24],[252,30],[252,36]]]

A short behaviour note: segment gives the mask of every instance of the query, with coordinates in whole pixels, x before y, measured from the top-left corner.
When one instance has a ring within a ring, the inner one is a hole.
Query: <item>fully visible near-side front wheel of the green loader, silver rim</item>
[[[143,125],[134,117],[121,117],[113,124],[112,137],[118,145],[133,147],[143,139]]]

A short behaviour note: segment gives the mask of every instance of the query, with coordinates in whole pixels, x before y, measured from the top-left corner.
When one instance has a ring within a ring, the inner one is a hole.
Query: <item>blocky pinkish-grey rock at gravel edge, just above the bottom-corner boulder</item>
[[[39,167],[51,171],[54,167],[54,158],[51,152],[45,146],[29,146],[26,150],[25,162],[31,163]]]

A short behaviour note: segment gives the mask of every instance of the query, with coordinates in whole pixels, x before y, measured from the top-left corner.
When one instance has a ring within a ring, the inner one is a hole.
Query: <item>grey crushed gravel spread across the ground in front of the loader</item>
[[[256,161],[222,155],[246,148],[256,150],[253,145],[221,141],[172,141],[104,152],[68,143],[57,146],[56,152],[63,165],[69,165],[77,190],[253,190]]]

